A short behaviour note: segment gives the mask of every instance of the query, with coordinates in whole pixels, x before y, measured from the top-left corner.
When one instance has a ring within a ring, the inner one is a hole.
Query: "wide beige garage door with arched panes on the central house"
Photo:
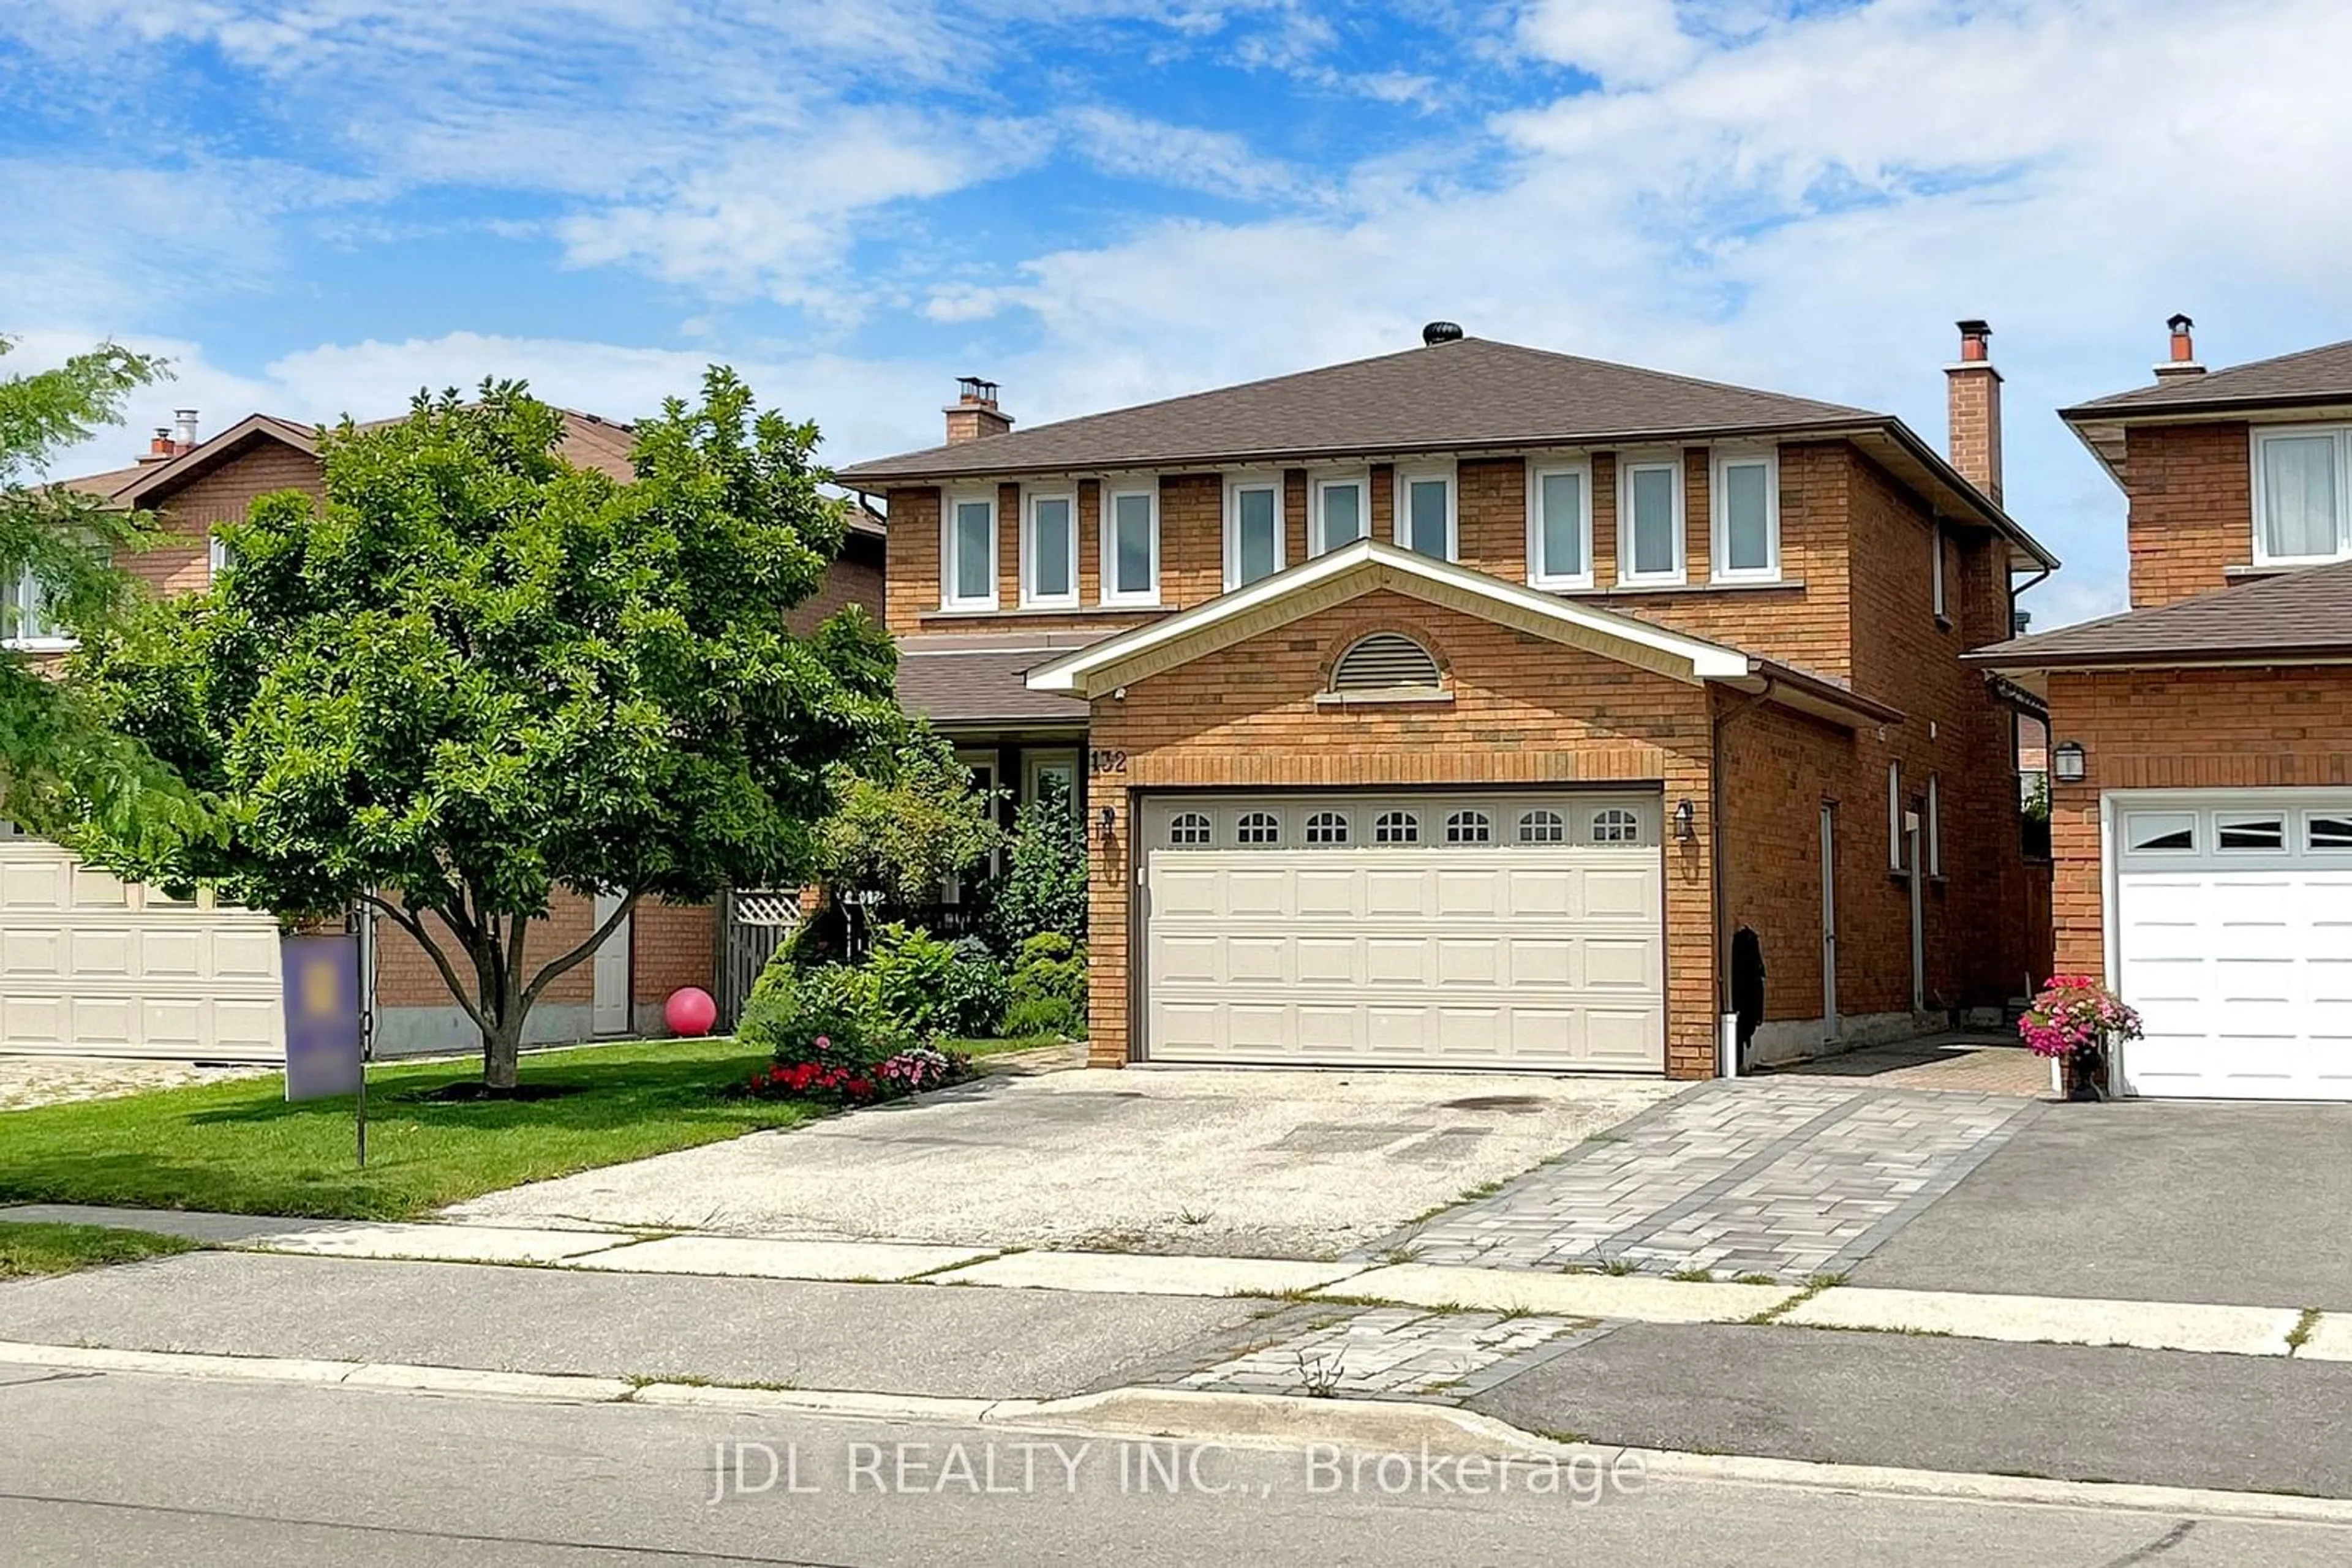
[[[1658,797],[1148,799],[1143,1056],[1665,1070]]]

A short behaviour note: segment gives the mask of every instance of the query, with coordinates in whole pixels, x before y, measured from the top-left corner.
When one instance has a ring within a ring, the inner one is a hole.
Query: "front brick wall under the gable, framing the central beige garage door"
[[[1331,661],[1357,637],[1409,630],[1451,675],[1446,705],[1319,708]],[[1392,592],[1369,592],[1094,705],[1098,771],[1089,802],[1110,806],[1096,835],[1089,907],[1091,1048],[1129,1053],[1131,792],[1171,785],[1355,788],[1498,783],[1663,783],[1691,799],[1698,842],[1670,844],[1665,867],[1668,1072],[1715,1072],[1715,954],[1708,820],[1708,696],[1663,675],[1566,649]]]

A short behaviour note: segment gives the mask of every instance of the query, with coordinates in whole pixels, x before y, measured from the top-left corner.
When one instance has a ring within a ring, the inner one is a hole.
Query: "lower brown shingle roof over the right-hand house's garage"
[[[1969,658],[1994,670],[2352,658],[2352,562],[2013,637]]]

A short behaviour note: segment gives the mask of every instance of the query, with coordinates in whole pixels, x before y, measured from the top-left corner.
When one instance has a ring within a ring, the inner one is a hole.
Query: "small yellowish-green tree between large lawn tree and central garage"
[[[880,893],[920,905],[985,860],[1004,842],[995,790],[938,736],[917,733],[896,757],[842,769],[837,806],[818,830],[818,875],[847,893]]]

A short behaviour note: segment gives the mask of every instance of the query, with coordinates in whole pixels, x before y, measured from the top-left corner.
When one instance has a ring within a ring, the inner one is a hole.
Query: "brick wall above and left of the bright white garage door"
[[[2051,733],[2086,752],[2084,783],[2051,783],[2058,969],[2096,976],[2100,792],[2352,785],[2352,670],[2053,670]]]

